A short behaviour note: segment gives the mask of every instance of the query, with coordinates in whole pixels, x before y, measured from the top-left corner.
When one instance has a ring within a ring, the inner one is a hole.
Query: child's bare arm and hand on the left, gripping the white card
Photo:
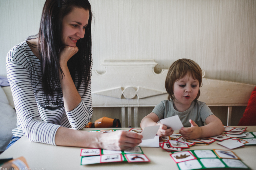
[[[157,135],[170,136],[173,134],[172,128],[167,128],[167,126],[163,125],[162,123],[157,123],[158,121],[159,121],[158,116],[155,113],[151,112],[141,120],[140,127],[144,129],[144,127],[146,126],[160,125],[160,128],[157,131]]]

